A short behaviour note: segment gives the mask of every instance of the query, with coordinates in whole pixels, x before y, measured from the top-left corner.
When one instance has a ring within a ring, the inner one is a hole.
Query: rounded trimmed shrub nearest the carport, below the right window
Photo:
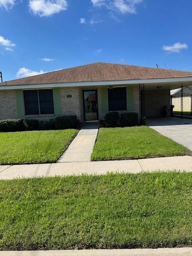
[[[138,113],[122,113],[119,122],[121,126],[136,126],[139,124]]]

